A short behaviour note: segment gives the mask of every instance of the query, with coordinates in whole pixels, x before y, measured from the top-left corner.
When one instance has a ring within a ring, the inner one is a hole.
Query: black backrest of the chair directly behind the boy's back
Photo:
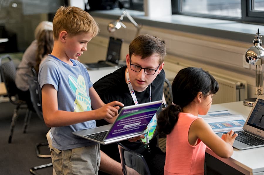
[[[41,105],[41,90],[38,84],[38,75],[35,72],[34,68],[32,68],[32,72],[33,75],[28,75],[30,98],[33,104],[33,108],[35,109],[38,117],[43,119],[42,105]]]

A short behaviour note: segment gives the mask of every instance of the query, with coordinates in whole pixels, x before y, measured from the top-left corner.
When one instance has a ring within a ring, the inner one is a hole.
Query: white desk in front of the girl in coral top
[[[243,101],[212,105],[209,111],[229,110],[233,114],[241,114],[245,119],[252,107],[243,105]],[[234,149],[233,155],[228,159],[217,156],[212,150],[206,149],[206,153],[228,164],[243,174],[264,175],[264,147],[248,150]],[[214,166],[218,166],[215,164]]]

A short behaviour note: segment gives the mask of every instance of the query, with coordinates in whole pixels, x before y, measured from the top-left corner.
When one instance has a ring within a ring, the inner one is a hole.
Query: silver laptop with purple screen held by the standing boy
[[[143,135],[161,104],[160,100],[125,106],[113,124],[75,131],[72,134],[104,145]]]

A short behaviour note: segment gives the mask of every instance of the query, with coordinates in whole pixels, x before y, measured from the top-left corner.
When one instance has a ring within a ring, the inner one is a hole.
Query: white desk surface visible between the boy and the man
[[[115,70],[119,68],[120,67],[107,67],[107,68],[100,68],[98,70],[87,70],[87,71],[90,75],[91,82],[95,83],[100,78],[104,77],[107,74],[114,72]]]

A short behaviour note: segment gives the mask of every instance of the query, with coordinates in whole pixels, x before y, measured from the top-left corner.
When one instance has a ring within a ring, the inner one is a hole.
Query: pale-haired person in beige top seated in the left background
[[[18,65],[16,71],[15,83],[18,88],[19,99],[26,101],[28,108],[31,108],[33,105],[30,99],[29,85],[28,85],[28,75],[32,74],[31,67],[36,66],[36,55],[38,51],[38,40],[40,33],[43,30],[52,31],[52,22],[42,21],[35,28],[35,40],[32,41],[30,46],[26,49],[23,54],[22,60]],[[33,107],[32,107],[33,109]]]

